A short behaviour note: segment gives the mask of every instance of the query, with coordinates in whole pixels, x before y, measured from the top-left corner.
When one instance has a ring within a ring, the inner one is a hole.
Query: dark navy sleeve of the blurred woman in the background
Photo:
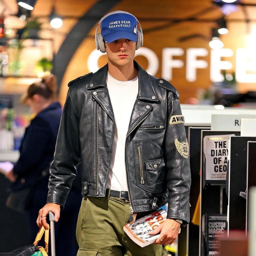
[[[22,151],[20,151],[19,159],[13,167],[15,175],[28,174],[40,164],[50,137],[51,131],[47,122],[42,118],[35,117],[22,140]]]

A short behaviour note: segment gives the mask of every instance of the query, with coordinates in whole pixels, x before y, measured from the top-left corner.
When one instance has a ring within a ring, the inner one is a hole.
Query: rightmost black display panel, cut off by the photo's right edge
[[[247,142],[247,184],[246,192],[250,191],[252,186],[256,186],[256,141]],[[249,193],[246,193],[246,233],[248,231],[248,202],[249,202]]]

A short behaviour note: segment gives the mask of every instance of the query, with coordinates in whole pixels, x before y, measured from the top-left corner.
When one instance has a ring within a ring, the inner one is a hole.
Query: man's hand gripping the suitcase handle
[[[60,216],[60,205],[49,203],[39,210],[38,217],[36,220],[36,224],[38,225],[38,227],[44,226],[45,229],[48,229],[46,216],[48,215],[49,211],[54,213],[54,221],[58,222]]]

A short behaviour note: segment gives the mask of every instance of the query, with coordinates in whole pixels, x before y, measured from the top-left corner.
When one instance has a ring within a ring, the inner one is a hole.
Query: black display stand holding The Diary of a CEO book
[[[224,192],[225,184],[219,185],[210,185],[206,184],[204,187],[202,186],[203,181],[205,180],[205,174],[202,172],[203,165],[204,165],[204,137],[205,136],[211,136],[211,135],[228,135],[228,134],[234,134],[236,136],[240,135],[240,132],[227,132],[227,131],[201,131],[201,179],[200,179],[200,234],[199,234],[199,255],[204,256],[202,254],[202,245],[203,245],[203,239],[202,239],[202,216],[205,214],[227,214],[227,204],[228,199],[227,195]]]

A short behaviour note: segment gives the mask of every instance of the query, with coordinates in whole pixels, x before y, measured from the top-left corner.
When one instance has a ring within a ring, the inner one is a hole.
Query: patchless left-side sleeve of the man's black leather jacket
[[[54,159],[50,166],[47,203],[64,207],[79,162],[79,117],[69,89],[60,120]]]

